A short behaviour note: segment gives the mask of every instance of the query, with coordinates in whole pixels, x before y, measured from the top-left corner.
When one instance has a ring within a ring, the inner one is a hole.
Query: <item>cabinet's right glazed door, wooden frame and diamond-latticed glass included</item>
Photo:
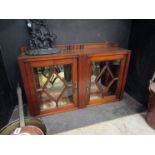
[[[126,56],[90,56],[88,62],[88,105],[118,100],[123,91]]]

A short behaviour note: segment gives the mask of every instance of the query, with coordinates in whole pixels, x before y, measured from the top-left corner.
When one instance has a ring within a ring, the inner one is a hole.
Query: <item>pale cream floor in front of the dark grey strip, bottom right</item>
[[[124,116],[86,127],[81,127],[58,135],[155,135],[145,120],[146,113]]]

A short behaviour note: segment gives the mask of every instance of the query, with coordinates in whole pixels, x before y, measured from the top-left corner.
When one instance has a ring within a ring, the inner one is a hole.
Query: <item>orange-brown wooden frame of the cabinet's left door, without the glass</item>
[[[40,105],[37,92],[36,92],[36,82],[33,76],[33,68],[35,67],[44,67],[51,65],[65,65],[70,64],[72,66],[72,93],[73,93],[73,104],[68,104],[65,106],[57,107],[54,109],[48,109],[45,111],[40,111]],[[66,58],[66,59],[50,59],[50,60],[37,60],[37,61],[28,61],[25,63],[25,71],[27,78],[27,85],[29,88],[28,94],[28,106],[30,113],[32,115],[48,115],[58,112],[65,112],[73,109],[77,109],[77,59],[76,58]]]

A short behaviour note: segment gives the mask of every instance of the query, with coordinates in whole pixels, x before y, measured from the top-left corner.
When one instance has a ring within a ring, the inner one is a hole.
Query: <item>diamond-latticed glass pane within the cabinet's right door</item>
[[[90,100],[115,95],[120,60],[92,62]]]

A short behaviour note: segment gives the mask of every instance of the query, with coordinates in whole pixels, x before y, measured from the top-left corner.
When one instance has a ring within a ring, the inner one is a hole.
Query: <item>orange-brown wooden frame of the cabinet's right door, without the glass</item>
[[[92,56],[88,56],[87,62],[89,65],[89,73],[87,74],[87,76],[88,76],[87,78],[89,79],[89,81],[91,80],[90,78],[91,78],[91,63],[92,62],[113,61],[113,60],[121,61],[115,95],[110,95],[110,96],[105,96],[104,98],[90,100],[90,84],[89,84],[89,92],[87,92],[87,106],[117,101],[117,100],[120,100],[120,98],[122,97],[122,94],[124,91],[124,86],[125,86],[125,81],[126,81],[127,69],[128,69],[128,65],[126,65],[126,62],[129,61],[129,57],[127,55],[120,54],[120,55],[92,55]]]

